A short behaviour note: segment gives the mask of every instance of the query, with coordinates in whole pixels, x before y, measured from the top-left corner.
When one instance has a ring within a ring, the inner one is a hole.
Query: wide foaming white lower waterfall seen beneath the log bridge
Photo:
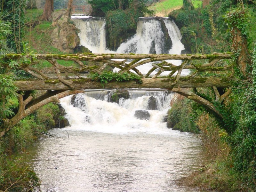
[[[129,90],[130,98],[120,98],[117,104],[108,102],[108,95],[114,91],[90,91],[62,98],[61,105],[70,123],[66,129],[117,133],[168,131],[163,119],[173,97],[171,92]],[[152,99],[157,110],[149,109]],[[135,113],[149,117],[136,117]]]

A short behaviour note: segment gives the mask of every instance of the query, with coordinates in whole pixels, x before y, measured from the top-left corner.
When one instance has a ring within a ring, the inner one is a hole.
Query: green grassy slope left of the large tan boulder
[[[30,49],[36,53],[64,54],[52,46],[50,36],[54,27],[52,26],[52,22],[40,20],[42,14],[43,10],[26,10],[26,27],[23,41],[28,43],[28,47],[30,47]],[[63,66],[76,66],[73,61],[58,60],[58,63]],[[36,67],[41,69],[52,67],[52,65],[48,61],[43,60],[37,64]]]

